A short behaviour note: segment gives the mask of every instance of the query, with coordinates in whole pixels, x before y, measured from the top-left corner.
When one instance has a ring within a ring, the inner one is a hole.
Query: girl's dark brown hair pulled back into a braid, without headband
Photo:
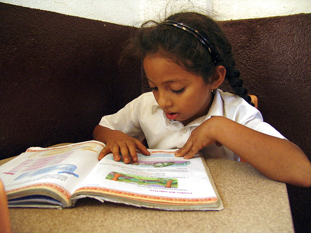
[[[235,94],[253,105],[246,88],[242,87],[243,80],[239,78],[240,72],[235,67],[231,44],[211,17],[197,12],[180,12],[165,20],[182,22],[203,34],[217,55],[216,64],[203,43],[193,35],[178,27],[153,20],[142,24],[141,29],[130,40],[126,51],[131,51],[142,59],[146,55],[163,53],[187,71],[202,76],[206,83],[209,83],[210,78],[213,79],[216,66],[223,65],[226,69],[225,78]]]

